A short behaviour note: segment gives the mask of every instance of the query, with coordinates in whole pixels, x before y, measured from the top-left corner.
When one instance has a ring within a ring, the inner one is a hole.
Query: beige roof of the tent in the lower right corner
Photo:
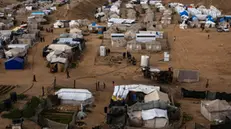
[[[216,99],[213,101],[202,101],[201,103],[205,105],[209,112],[231,111],[231,106],[225,100]]]

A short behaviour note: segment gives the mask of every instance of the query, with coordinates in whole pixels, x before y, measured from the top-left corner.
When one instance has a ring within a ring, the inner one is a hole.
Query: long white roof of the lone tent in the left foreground
[[[76,101],[85,101],[92,98],[92,93],[87,89],[60,89],[55,92],[55,95],[58,95],[60,99],[63,100],[76,100]]]

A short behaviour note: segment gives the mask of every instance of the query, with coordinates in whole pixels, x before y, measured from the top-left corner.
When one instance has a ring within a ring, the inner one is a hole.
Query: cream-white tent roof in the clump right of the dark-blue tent
[[[72,47],[66,45],[66,44],[51,44],[48,46],[49,49],[53,51],[62,51],[66,53],[72,52]]]

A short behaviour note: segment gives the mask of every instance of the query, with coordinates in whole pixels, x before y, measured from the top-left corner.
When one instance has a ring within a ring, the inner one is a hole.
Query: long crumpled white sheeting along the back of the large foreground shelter
[[[142,84],[119,85],[114,87],[113,96],[116,96],[117,98],[125,99],[129,91],[143,92],[145,94],[149,94],[155,90],[159,91],[160,87],[151,86],[151,85],[142,85]]]

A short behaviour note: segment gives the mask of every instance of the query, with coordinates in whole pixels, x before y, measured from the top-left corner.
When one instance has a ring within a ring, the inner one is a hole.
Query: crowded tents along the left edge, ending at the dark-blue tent
[[[29,48],[38,41],[44,41],[40,34],[43,30],[42,24],[47,23],[47,16],[55,10],[56,7],[52,3],[38,3],[35,0],[27,0],[3,9],[4,13],[0,13],[4,19],[0,18],[0,58],[7,59],[6,69],[24,68]],[[10,30],[9,28],[14,26],[15,15],[24,15],[25,12],[31,13],[27,21],[22,21],[19,26]],[[10,26],[5,24],[6,21]]]

